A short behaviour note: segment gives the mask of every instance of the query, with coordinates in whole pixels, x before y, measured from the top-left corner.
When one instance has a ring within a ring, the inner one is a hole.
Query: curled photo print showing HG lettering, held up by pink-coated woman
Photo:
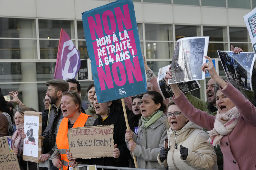
[[[205,79],[201,67],[205,63],[209,37],[185,37],[177,41],[171,62],[173,78],[168,84]]]

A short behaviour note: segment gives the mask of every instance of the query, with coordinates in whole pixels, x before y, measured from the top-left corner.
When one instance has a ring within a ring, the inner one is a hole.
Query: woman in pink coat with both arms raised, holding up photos
[[[208,142],[221,147],[224,169],[256,169],[256,108],[230,82],[221,79],[211,58],[205,57],[209,63],[204,63],[202,70],[205,73],[208,70],[211,78],[220,86],[215,92],[218,107],[216,116],[195,109],[177,84],[171,84],[173,101],[191,122],[212,129],[208,131]],[[165,78],[172,78],[171,72],[167,73]]]

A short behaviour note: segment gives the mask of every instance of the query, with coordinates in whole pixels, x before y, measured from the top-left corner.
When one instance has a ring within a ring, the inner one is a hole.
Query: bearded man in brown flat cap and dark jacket
[[[46,95],[50,97],[51,111],[48,117],[49,124],[43,132],[43,153],[39,160],[45,161],[51,157],[54,151],[57,125],[60,119],[63,118],[61,111],[62,93],[69,90],[69,83],[62,79],[53,79],[45,83],[48,86]]]

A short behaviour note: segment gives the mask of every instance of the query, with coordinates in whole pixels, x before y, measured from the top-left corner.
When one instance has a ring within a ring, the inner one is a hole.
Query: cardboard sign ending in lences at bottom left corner
[[[17,155],[13,152],[14,145],[11,136],[0,138],[0,170],[19,170]]]

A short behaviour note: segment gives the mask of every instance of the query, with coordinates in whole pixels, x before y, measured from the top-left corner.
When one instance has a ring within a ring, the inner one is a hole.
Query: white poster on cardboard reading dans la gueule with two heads
[[[24,112],[24,132],[26,138],[23,139],[23,160],[41,163],[38,161],[42,154],[42,113],[35,111]]]

